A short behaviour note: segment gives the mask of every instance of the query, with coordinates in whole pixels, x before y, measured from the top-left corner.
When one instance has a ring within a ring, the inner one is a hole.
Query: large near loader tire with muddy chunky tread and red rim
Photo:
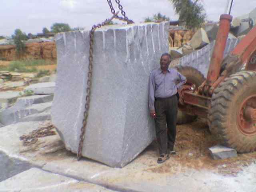
[[[246,120],[247,106],[256,109],[256,72],[241,71],[214,90],[209,110],[210,131],[237,152],[256,150],[256,124]]]

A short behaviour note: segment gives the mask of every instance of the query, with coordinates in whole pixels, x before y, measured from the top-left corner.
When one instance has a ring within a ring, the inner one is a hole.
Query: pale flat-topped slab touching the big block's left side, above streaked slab
[[[55,82],[36,83],[27,86],[24,90],[31,90],[34,94],[54,94]]]

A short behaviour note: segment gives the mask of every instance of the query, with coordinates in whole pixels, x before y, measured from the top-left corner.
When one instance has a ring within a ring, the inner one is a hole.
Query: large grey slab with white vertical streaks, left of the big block
[[[51,108],[52,99],[53,95],[18,98],[13,106],[0,111],[0,122],[4,125],[13,124],[31,114],[44,112]]]

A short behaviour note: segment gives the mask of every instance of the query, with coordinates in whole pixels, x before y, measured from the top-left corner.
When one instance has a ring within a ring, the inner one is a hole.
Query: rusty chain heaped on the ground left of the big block
[[[22,140],[23,146],[29,146],[29,145],[35,144],[38,141],[38,138],[40,137],[56,135],[56,132],[52,130],[54,128],[55,128],[54,125],[41,127],[39,129],[36,129],[30,132],[27,135],[20,136],[20,140]]]

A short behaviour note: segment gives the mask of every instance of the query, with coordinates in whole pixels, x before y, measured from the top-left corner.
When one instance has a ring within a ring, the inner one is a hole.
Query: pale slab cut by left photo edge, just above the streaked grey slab
[[[20,97],[18,91],[5,91],[0,94],[0,109],[9,107],[11,104],[16,102],[16,99]]]

